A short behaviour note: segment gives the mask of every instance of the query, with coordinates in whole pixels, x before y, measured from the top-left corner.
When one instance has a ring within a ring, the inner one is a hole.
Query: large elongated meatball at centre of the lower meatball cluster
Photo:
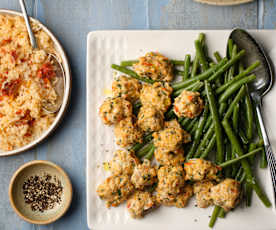
[[[157,173],[157,201],[163,205],[172,205],[176,195],[185,185],[185,172],[181,166],[161,166]]]

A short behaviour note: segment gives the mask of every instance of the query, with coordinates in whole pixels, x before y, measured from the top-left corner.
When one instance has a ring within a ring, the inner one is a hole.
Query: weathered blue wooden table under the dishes
[[[24,154],[0,158],[0,230],[77,230],[86,223],[86,35],[108,29],[275,29],[276,0],[215,7],[192,0],[26,0],[30,15],[47,25],[69,55],[71,106],[56,132]],[[0,0],[0,8],[19,10],[18,0]],[[25,162],[41,159],[62,166],[72,179],[70,210],[59,221],[35,226],[21,220],[8,198],[9,180]]]

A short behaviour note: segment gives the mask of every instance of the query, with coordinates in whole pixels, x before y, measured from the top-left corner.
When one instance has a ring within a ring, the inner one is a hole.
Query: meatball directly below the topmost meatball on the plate
[[[171,93],[172,88],[168,83],[143,84],[140,100],[142,105],[152,105],[157,110],[165,113],[171,105]]]

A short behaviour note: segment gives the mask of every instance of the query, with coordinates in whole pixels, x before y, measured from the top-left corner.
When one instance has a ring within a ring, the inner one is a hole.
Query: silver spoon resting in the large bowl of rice
[[[28,17],[27,11],[26,11],[25,2],[24,2],[24,0],[19,0],[19,3],[21,6],[23,17],[25,19],[25,23],[26,23],[26,27],[27,27],[27,31],[29,34],[32,48],[37,49],[38,45],[37,45],[35,36],[33,34],[31,25],[30,25],[29,17]],[[55,92],[57,94],[57,100],[55,101],[54,104],[47,100],[44,100],[42,107],[46,113],[56,113],[60,109],[62,102],[63,102],[64,86],[65,86],[65,73],[64,73],[63,66],[58,61],[57,57],[51,53],[47,53],[47,54],[48,54],[48,60],[53,64],[54,69],[55,69],[56,77],[55,77],[55,81],[52,82],[52,86],[54,87]]]

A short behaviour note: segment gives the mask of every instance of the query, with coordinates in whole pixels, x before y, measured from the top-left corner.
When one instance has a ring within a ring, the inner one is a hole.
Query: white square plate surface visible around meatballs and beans
[[[194,55],[194,40],[201,31],[97,31],[87,39],[87,220],[91,229],[112,230],[167,230],[169,228],[202,230],[208,229],[213,208],[194,207],[191,200],[188,207],[161,207],[144,219],[131,219],[125,205],[107,209],[105,202],[96,194],[96,187],[108,173],[101,167],[102,162],[112,158],[118,148],[114,142],[112,128],[104,126],[98,116],[98,108],[107,96],[113,79],[112,63],[132,60],[147,51],[159,51],[171,59],[184,59],[185,54]],[[206,34],[209,52],[218,50],[225,54],[230,31],[202,31]],[[276,31],[252,31],[276,63]],[[276,147],[276,89],[265,97],[264,112],[266,126],[274,151]],[[268,119],[270,118],[270,119]],[[265,192],[273,201],[272,186],[268,170],[257,170],[257,176]],[[250,208],[239,207],[219,219],[215,229],[223,230],[275,230],[274,208],[266,208],[253,196]]]

